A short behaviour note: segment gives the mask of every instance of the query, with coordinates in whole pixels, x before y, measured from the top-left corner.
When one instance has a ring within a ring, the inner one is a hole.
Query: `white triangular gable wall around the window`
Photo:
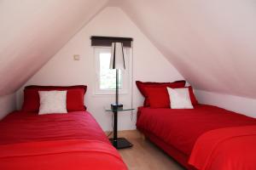
[[[57,24],[57,23],[56,23]],[[143,98],[135,85],[135,80],[169,82],[183,77],[149,42],[137,26],[120,9],[108,7],[79,31],[55,56],[44,65],[25,85],[74,85],[86,84],[85,105],[104,130],[111,129],[111,115],[104,111],[105,105],[114,101],[114,96],[94,94],[95,67],[94,50],[90,47],[90,36],[133,37],[133,105],[143,104]],[[80,60],[73,60],[73,54],[79,54]],[[17,92],[17,105],[22,105],[21,87]],[[131,93],[122,95],[120,101],[131,105]],[[133,111],[136,113],[136,111]],[[119,129],[133,129],[136,114],[131,121],[131,112],[120,113]]]

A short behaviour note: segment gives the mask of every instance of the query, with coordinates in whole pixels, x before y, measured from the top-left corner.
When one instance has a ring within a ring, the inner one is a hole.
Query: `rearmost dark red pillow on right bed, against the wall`
[[[144,100],[144,107],[148,107],[149,106],[149,101],[148,101],[148,96],[147,93],[145,91],[146,87],[169,87],[169,88],[183,88],[185,87],[186,81],[184,80],[180,80],[180,81],[176,81],[176,82],[140,82],[140,81],[136,81],[136,85],[137,88],[139,89],[139,91],[141,92],[141,94],[143,94],[143,97],[145,98]]]

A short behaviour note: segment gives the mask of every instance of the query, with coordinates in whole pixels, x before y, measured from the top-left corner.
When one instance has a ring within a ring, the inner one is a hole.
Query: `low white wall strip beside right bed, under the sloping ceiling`
[[[216,105],[230,111],[256,118],[256,99],[242,98],[228,94],[217,94],[195,90],[195,95],[201,104]]]

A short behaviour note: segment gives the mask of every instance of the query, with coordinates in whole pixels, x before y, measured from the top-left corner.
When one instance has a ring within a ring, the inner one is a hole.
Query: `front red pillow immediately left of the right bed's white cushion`
[[[170,99],[166,86],[144,88],[150,108],[170,108]]]

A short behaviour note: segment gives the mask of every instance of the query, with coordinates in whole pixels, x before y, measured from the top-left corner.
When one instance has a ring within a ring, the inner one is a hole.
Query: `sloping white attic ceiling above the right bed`
[[[256,3],[112,0],[195,88],[256,99]]]

